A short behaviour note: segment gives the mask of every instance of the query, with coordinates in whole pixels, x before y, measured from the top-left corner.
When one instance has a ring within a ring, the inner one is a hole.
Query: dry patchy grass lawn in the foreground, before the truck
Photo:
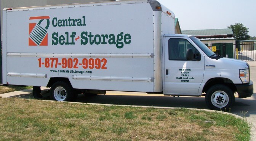
[[[228,114],[0,98],[0,140],[243,140],[246,121]]]

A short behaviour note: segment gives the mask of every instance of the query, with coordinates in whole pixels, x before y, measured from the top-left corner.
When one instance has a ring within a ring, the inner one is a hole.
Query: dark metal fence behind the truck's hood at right
[[[209,47],[214,53],[223,57],[235,58],[243,61],[256,61],[255,43],[220,43]]]

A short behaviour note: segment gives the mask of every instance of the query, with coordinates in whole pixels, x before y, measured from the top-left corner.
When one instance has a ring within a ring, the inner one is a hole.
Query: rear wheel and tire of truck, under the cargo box
[[[64,81],[55,82],[50,89],[50,97],[56,101],[70,101],[73,99],[73,88]]]

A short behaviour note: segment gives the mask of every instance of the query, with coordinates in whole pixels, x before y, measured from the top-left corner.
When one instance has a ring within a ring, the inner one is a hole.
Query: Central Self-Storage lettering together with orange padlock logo
[[[50,21],[51,20],[51,21]],[[51,25],[50,25],[51,24]],[[49,26],[51,28],[48,30]],[[122,49],[131,43],[131,35],[123,31],[115,33],[96,33],[104,27],[90,25],[92,31],[86,31],[86,18],[82,17],[51,17],[37,16],[29,18],[29,46],[50,45],[104,45],[116,46]],[[77,31],[70,31],[69,28]],[[89,29],[89,28],[88,28]],[[110,30],[110,28],[109,28]],[[49,31],[49,32],[48,32]],[[49,33],[49,39],[48,39]]]

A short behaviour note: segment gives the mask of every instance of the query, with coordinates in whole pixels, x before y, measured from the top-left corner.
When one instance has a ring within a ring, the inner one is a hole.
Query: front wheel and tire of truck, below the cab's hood
[[[235,102],[234,92],[226,85],[211,86],[206,92],[205,102],[211,110],[229,111]]]

